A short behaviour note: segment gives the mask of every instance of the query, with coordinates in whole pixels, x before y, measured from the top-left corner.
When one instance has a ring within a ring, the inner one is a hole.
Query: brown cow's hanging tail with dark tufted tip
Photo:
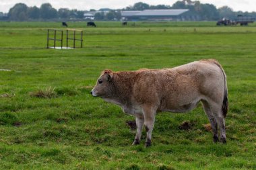
[[[228,114],[228,85],[227,85],[227,82],[226,82],[226,73],[225,73],[224,69],[222,68],[222,66],[220,65],[220,63],[217,60],[210,59],[210,60],[207,60],[207,61],[213,62],[222,71],[222,74],[223,74],[223,77],[224,77],[224,98],[223,98],[223,101],[222,101],[222,113],[223,113],[224,118],[226,118],[226,115]]]

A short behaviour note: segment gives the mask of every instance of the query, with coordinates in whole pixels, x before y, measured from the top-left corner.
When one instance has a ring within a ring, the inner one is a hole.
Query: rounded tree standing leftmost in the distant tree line
[[[28,19],[28,6],[24,3],[16,3],[9,9],[8,17],[13,21],[26,21]]]

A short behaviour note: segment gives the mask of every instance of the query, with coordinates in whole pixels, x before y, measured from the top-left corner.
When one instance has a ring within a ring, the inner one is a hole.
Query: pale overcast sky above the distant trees
[[[0,11],[7,13],[16,3],[25,3],[28,7],[40,7],[42,3],[51,3],[55,9],[69,8],[78,10],[89,9],[121,9],[137,2],[148,3],[149,5],[170,5],[178,0],[0,0]],[[217,8],[228,5],[234,11],[256,11],[256,0],[199,0],[201,3],[214,4]]]

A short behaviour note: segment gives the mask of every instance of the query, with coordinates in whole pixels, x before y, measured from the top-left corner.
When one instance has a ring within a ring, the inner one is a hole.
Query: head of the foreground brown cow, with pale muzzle
[[[91,91],[94,97],[110,97],[113,93],[113,71],[104,70]]]

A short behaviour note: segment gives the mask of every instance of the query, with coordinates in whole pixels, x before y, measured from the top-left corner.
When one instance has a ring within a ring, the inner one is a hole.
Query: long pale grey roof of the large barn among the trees
[[[147,9],[143,11],[121,11],[123,17],[181,15],[189,9]]]

